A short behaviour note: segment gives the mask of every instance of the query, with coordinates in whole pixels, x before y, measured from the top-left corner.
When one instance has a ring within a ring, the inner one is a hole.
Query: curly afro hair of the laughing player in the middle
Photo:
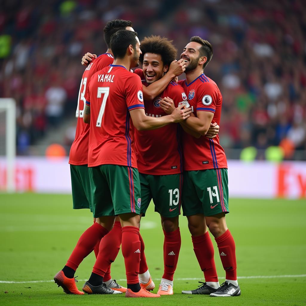
[[[172,44],[173,40],[168,40],[166,37],[154,36],[145,37],[140,42],[142,54],[140,54],[139,61],[142,64],[144,61],[144,54],[154,53],[162,57],[164,65],[170,65],[176,59],[177,49]]]

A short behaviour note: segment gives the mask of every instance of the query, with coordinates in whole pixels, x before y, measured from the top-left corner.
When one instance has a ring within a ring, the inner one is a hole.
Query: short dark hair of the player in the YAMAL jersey
[[[136,50],[136,36],[137,32],[128,30],[119,30],[110,38],[110,48],[114,54],[114,58],[124,58],[126,49],[129,45],[132,45],[133,49]]]

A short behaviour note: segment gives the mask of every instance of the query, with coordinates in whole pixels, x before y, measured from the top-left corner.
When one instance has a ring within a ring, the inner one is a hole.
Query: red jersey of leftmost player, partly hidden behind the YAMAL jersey
[[[109,66],[113,61],[114,58],[111,54],[101,54],[87,66],[83,73],[76,108],[76,118],[78,118],[76,136],[69,153],[69,164],[71,165],[87,165],[88,163],[89,124],[83,121],[86,85],[94,73]]]

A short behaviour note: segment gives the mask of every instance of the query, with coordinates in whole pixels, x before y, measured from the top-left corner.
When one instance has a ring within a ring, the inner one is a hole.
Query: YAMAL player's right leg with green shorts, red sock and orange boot
[[[122,255],[127,278],[126,297],[159,297],[139,284],[140,264],[140,180],[138,170],[118,165],[101,166],[106,174],[113,200],[114,213],[122,227]]]

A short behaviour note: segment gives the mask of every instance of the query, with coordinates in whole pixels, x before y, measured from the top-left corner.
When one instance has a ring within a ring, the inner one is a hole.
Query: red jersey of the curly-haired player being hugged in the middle
[[[143,84],[148,86],[145,80]],[[179,102],[187,100],[184,89],[177,83],[171,82],[154,100],[144,101],[146,115],[165,116],[166,113],[161,109],[159,102],[167,96],[173,99],[175,107]],[[135,142],[140,173],[152,175],[182,173],[181,126],[179,124],[171,123],[150,131],[135,130]]]

